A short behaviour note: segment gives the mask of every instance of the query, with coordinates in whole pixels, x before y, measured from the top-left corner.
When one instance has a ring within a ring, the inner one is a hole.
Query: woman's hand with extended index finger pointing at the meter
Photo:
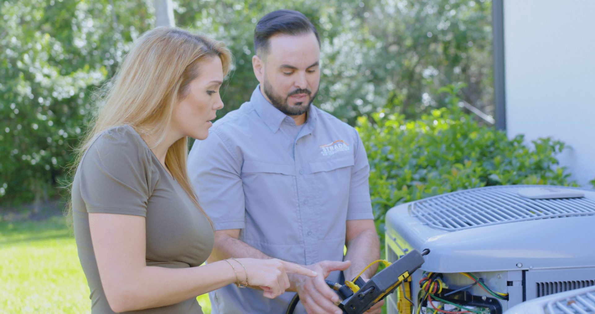
[[[264,290],[263,296],[269,299],[278,297],[289,288],[287,274],[300,274],[308,277],[317,276],[317,272],[311,269],[280,259],[241,258],[236,260],[246,267],[246,271],[248,271],[248,283]],[[230,261],[233,262],[233,260]],[[240,282],[244,282],[246,278],[244,269],[240,265],[237,265],[235,269]]]

